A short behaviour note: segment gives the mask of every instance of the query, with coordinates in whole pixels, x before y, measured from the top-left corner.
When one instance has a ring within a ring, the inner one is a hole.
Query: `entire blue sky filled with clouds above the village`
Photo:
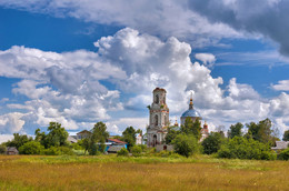
[[[152,90],[175,123],[289,129],[289,1],[0,0],[0,140],[49,122],[146,130]]]

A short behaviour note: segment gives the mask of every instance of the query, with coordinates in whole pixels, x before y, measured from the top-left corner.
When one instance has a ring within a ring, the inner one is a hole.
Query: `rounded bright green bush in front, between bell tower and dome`
[[[171,143],[177,153],[187,158],[199,151],[198,140],[192,134],[178,134]]]

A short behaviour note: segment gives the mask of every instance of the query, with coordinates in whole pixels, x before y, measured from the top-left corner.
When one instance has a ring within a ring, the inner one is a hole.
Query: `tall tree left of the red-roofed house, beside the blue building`
[[[104,143],[108,138],[107,125],[103,122],[96,123],[89,140],[89,154],[94,155],[97,152],[104,152]]]

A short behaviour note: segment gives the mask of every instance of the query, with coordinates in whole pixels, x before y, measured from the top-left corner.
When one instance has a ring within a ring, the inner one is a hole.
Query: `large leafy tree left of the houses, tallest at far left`
[[[50,122],[47,129],[48,134],[36,130],[36,141],[39,141],[44,148],[67,145],[68,132],[58,122]]]

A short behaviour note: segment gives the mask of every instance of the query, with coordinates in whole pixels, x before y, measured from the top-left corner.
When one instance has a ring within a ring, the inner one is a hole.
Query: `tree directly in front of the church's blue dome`
[[[186,118],[185,125],[181,125],[181,132],[186,134],[193,134],[197,140],[201,138],[201,123],[199,118],[195,121],[191,118]]]

